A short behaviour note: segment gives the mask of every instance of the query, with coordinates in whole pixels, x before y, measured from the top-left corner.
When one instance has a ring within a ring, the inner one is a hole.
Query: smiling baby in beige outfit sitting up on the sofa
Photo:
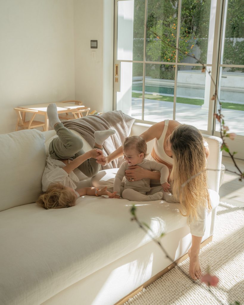
[[[109,198],[120,198],[133,200],[133,201],[151,201],[162,199],[163,193],[168,192],[170,187],[167,182],[169,176],[169,170],[166,165],[158,163],[156,161],[146,160],[147,145],[145,140],[139,136],[132,136],[125,139],[123,144],[123,153],[125,162],[121,164],[113,182],[113,191],[115,194],[111,194]],[[162,186],[161,191],[152,193],[150,187],[150,178],[143,178],[138,181],[134,179],[124,182],[124,190],[120,194],[121,181],[125,176],[125,171],[128,167],[138,165],[147,170],[160,171],[160,184]],[[150,192],[151,191],[151,192]],[[150,193],[149,193],[150,192]]]

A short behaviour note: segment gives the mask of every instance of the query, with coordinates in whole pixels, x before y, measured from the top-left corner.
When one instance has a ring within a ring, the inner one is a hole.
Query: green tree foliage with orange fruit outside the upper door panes
[[[211,0],[181,2],[178,62],[195,63],[188,54],[207,63],[207,44]],[[134,1],[133,60],[143,60],[145,1]],[[244,64],[244,6],[242,0],[229,0],[225,33],[225,64]],[[146,60],[163,62],[146,66],[146,76],[174,79],[177,55],[178,0],[148,0],[146,24]],[[213,29],[212,29],[213,30]],[[197,54],[195,54],[197,52]],[[168,64],[167,64],[168,63]],[[159,66],[159,67],[158,67]],[[199,67],[200,69],[201,67]],[[133,76],[142,76],[133,67]]]

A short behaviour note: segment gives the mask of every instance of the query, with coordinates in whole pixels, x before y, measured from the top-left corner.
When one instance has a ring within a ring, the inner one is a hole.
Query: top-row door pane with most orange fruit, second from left
[[[146,60],[175,62],[178,0],[148,0]]]

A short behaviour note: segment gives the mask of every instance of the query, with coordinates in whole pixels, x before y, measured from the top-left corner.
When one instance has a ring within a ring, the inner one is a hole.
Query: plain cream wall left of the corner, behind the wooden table
[[[75,98],[73,0],[0,1],[0,43],[0,133],[15,106]]]

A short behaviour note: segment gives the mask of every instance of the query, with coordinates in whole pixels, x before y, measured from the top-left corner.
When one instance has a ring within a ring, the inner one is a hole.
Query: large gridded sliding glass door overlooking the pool
[[[213,113],[218,103],[211,99],[217,84],[223,114],[234,111],[230,120],[233,116],[238,120],[244,114],[241,4],[240,0],[116,0],[114,109],[139,122],[174,119],[217,135]],[[238,20],[237,31],[232,23]],[[241,132],[242,127],[237,133],[243,141]]]

